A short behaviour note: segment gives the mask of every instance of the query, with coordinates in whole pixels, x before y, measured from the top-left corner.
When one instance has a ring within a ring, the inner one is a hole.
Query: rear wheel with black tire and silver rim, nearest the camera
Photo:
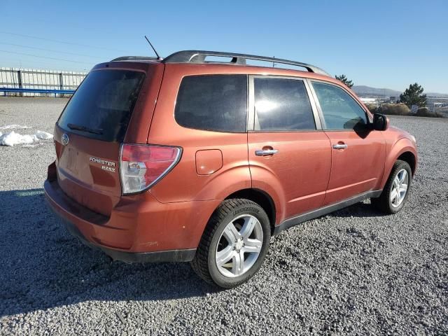
[[[245,199],[225,200],[207,223],[190,265],[207,283],[239,286],[260,269],[270,238],[269,218],[260,205]]]

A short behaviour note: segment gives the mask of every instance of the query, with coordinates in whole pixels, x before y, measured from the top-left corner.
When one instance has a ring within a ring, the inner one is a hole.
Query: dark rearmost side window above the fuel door
[[[183,78],[174,118],[197,130],[246,132],[247,76],[205,75]]]

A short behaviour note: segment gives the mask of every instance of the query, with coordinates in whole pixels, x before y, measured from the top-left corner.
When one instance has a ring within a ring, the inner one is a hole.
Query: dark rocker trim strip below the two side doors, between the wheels
[[[379,195],[381,195],[381,192],[382,190],[370,190],[367,191],[366,193],[356,195],[341,202],[330,204],[325,207],[305,212],[304,214],[294,216],[292,218],[288,218],[285,221],[281,222],[279,225],[275,226],[273,235],[278,235],[281,231],[286,230],[288,228],[292,228],[293,226],[298,225],[300,223],[310,221],[311,219],[318,218],[326,214],[330,214],[330,212],[343,209],[345,207],[349,207],[358,202],[362,202],[363,200],[367,200],[367,198],[379,197]]]

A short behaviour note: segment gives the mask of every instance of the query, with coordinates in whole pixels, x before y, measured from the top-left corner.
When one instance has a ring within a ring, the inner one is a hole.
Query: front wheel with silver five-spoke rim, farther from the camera
[[[400,181],[400,178],[404,181]],[[400,182],[397,184],[397,182]],[[406,183],[407,182],[407,183]],[[412,170],[409,164],[402,160],[397,160],[392,167],[391,174],[388,177],[386,186],[384,186],[383,192],[378,198],[372,198],[370,202],[379,211],[384,212],[384,214],[396,214],[398,211],[404,207],[407,197],[409,196],[409,190],[412,183]],[[402,190],[406,185],[405,193],[402,194]],[[400,193],[396,193],[396,186]]]

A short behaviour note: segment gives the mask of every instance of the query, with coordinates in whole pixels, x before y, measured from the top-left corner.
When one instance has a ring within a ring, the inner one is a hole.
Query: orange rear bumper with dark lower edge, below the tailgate
[[[160,203],[151,194],[120,201],[107,217],[45,181],[45,199],[66,228],[84,244],[124,262],[193,260],[202,232],[219,200]]]

